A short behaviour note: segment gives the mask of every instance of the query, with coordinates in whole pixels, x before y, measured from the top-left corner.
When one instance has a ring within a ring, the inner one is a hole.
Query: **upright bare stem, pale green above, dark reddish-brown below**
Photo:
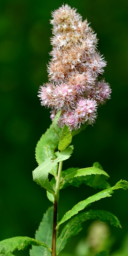
[[[54,216],[53,216],[52,256],[56,256],[57,206],[58,206],[58,200],[59,200],[60,179],[61,179],[62,165],[63,165],[63,161],[59,162],[58,175],[57,175],[56,188],[55,188]]]

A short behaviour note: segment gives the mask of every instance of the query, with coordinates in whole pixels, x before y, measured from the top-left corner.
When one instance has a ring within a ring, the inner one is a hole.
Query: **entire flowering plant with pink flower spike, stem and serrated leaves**
[[[1,256],[11,256],[14,250],[23,250],[30,244],[30,256],[57,256],[71,236],[82,230],[82,223],[89,219],[121,227],[117,217],[109,212],[78,212],[92,202],[111,196],[116,189],[127,189],[127,181],[121,180],[111,187],[107,182],[109,175],[98,162],[92,167],[62,171],[63,161],[73,151],[73,146],[69,146],[72,136],[94,123],[98,105],[110,98],[111,90],[103,78],[99,79],[106,62],[97,51],[96,34],[87,20],[82,22],[81,15],[67,4],[54,11],[52,16],[53,50],[48,66],[49,83],[40,87],[39,97],[42,105],[52,109],[53,122],[37,143],[38,167],[33,171],[33,180],[46,189],[47,197],[54,206],[44,214],[35,239],[26,236],[5,239],[0,242]],[[53,175],[51,181],[49,173]],[[78,202],[57,221],[60,189],[69,185],[79,187],[82,183],[102,190]],[[65,221],[68,222],[60,232],[59,227]]]

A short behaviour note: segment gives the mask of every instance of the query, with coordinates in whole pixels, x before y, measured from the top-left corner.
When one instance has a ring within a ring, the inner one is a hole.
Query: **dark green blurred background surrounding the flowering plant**
[[[43,213],[52,205],[46,191],[33,182],[32,170],[37,166],[36,143],[51,123],[49,109],[41,107],[37,97],[39,86],[47,82],[52,49],[49,20],[51,10],[63,2],[91,22],[99,38],[98,50],[107,61],[103,76],[113,89],[111,99],[98,109],[96,124],[73,138],[74,153],[63,169],[99,161],[111,185],[128,180],[128,1],[0,0],[0,240],[34,237]],[[85,185],[62,190],[59,218],[96,192]],[[128,191],[118,190],[88,209],[108,210],[120,219],[122,229],[110,227],[115,237],[112,251],[118,249],[128,232]],[[72,253],[90,223],[71,239],[65,252]],[[28,251],[15,255],[27,256]]]

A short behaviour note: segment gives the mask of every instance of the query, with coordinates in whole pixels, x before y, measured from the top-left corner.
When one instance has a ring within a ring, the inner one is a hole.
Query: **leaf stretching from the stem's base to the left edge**
[[[27,236],[16,236],[0,242],[0,253],[7,254],[15,250],[24,250],[28,245],[43,246],[48,248],[43,241],[39,242]]]

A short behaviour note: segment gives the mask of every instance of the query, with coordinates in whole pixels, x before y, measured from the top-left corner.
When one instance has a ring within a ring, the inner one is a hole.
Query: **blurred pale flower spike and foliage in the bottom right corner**
[[[116,242],[116,237],[110,233],[107,224],[94,221],[89,229],[87,237],[77,242],[73,254],[61,252],[60,256],[127,256],[128,255],[128,233],[123,239],[121,247],[111,253]]]

